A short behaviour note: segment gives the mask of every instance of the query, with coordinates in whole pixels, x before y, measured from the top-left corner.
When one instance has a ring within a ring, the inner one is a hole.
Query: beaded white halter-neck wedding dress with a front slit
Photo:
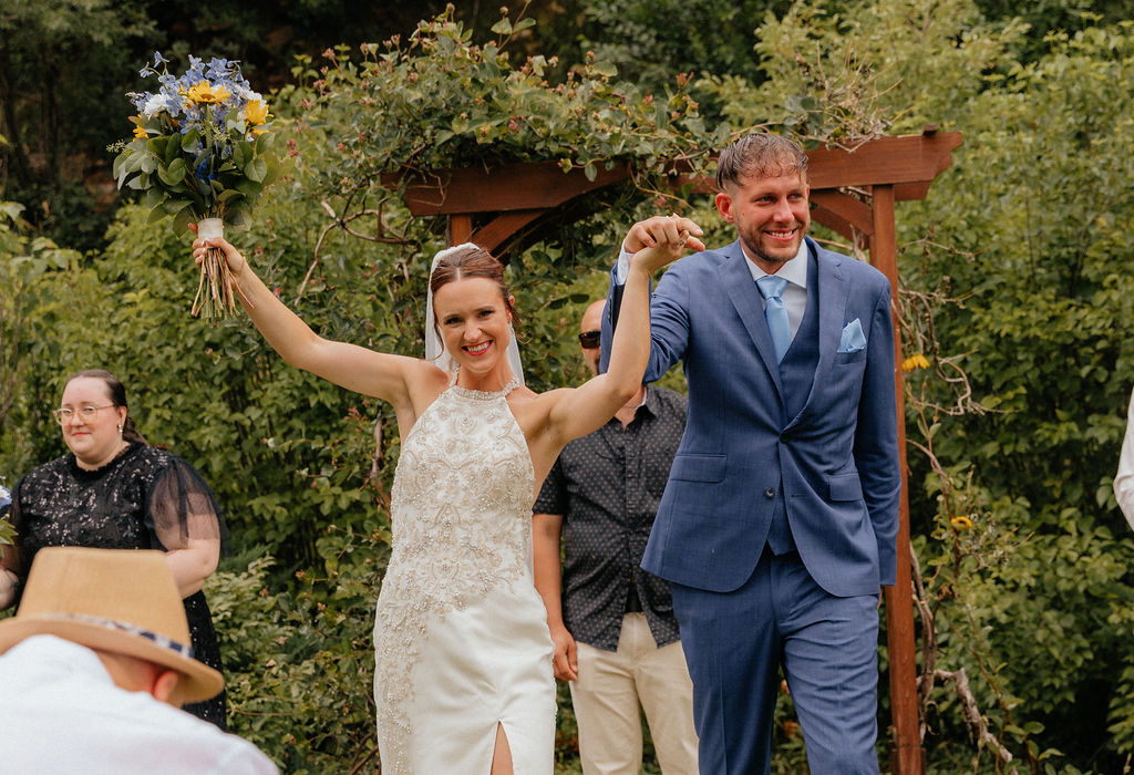
[[[550,775],[556,689],[532,582],[534,472],[502,391],[454,384],[403,440],[374,625],[382,772]]]

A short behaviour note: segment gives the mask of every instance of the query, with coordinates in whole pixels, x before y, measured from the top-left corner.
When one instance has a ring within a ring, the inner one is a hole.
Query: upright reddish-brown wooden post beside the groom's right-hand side
[[[886,587],[886,630],[890,658],[890,715],[894,724],[892,768],[896,775],[922,775],[921,733],[917,719],[917,650],[914,638],[913,585],[909,565],[909,497],[906,470],[905,390],[902,373],[902,332],[898,317],[898,246],[894,227],[894,187],[873,187],[871,264],[890,281],[894,325],[894,383],[898,406],[898,461],[902,494],[898,521],[897,584]]]

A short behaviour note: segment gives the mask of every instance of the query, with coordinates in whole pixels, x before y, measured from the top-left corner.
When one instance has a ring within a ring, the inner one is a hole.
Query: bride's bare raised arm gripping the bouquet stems
[[[375,352],[365,347],[323,339],[303,318],[280,301],[245,261],[240,252],[223,238],[196,239],[193,258],[197,264],[209,247],[220,248],[231,272],[232,290],[244,310],[269,344],[291,366],[323,377],[364,395],[389,401],[398,412],[420,414],[415,395],[428,395],[428,385],[443,389],[445,374],[417,358]],[[432,392],[439,392],[432,391]],[[406,417],[411,424],[413,417]]]

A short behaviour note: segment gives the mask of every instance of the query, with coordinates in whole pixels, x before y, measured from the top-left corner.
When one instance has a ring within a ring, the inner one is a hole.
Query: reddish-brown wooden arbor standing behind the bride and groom
[[[898,264],[894,220],[896,202],[925,198],[934,178],[951,163],[959,133],[881,137],[854,150],[810,152],[812,218],[865,247],[870,263],[890,280],[897,318]],[[548,228],[577,207],[579,197],[625,184],[629,170],[618,165],[587,180],[582,170],[564,173],[553,162],[501,165],[493,169],[438,170],[405,189],[414,215],[448,218],[448,241],[476,242],[498,257],[539,241]],[[688,181],[675,172],[674,181]],[[391,181],[392,182],[392,181]],[[695,186],[713,190],[709,180]],[[909,563],[909,501],[907,495],[905,397],[902,338],[895,325],[894,372],[898,402],[898,445],[902,460],[898,576],[886,587],[887,640],[892,713],[892,772],[921,775],[924,763],[917,718],[917,663]]]

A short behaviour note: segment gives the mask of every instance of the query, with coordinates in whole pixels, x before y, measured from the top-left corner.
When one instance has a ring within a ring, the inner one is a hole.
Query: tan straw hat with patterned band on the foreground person
[[[209,699],[225,687],[219,672],[192,656],[185,606],[161,552],[40,550],[19,611],[0,622],[0,654],[37,635],[177,671],[183,702]]]

